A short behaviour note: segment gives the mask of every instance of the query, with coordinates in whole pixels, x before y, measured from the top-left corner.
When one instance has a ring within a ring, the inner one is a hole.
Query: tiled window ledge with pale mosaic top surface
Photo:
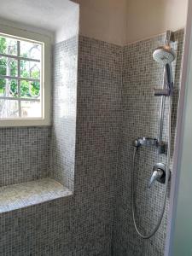
[[[49,177],[5,186],[0,188],[0,212],[29,207],[67,195],[72,195],[72,192]]]

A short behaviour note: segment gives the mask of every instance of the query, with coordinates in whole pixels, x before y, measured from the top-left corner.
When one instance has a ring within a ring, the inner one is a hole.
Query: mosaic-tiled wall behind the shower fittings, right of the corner
[[[118,196],[116,198],[115,232],[113,255],[163,256],[169,197],[160,230],[149,240],[137,236],[131,216],[131,142],[137,137],[157,137],[160,98],[154,97],[154,87],[160,87],[163,67],[153,61],[156,47],[164,44],[165,35],[150,38],[125,46],[123,52],[123,88],[120,119],[120,151]],[[173,63],[174,93],[172,109],[172,144],[177,122],[177,101],[180,88],[181,61],[183,55],[183,31],[176,32],[177,60]],[[167,102],[164,120],[164,139],[167,140]],[[172,148],[173,149],[173,148]],[[157,162],[166,162],[156,150],[141,148],[137,154],[135,184],[137,197],[137,224],[140,230],[148,232],[154,228],[160,215],[165,186],[155,183],[148,189],[152,167]],[[146,233],[145,233],[146,234]]]

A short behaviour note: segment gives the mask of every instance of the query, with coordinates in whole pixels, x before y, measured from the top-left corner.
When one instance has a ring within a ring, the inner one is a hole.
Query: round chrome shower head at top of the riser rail
[[[175,60],[175,52],[169,45],[160,46],[154,49],[153,58],[163,65],[170,64]]]

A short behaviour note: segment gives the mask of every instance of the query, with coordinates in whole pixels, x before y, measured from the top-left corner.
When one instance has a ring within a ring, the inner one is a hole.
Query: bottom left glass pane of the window
[[[0,99],[0,118],[18,118],[19,104],[15,100]]]

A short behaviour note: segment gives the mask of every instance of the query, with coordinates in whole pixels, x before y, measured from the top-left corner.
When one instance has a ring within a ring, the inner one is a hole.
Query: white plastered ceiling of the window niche
[[[76,8],[68,0],[0,0],[0,18],[55,32]]]

